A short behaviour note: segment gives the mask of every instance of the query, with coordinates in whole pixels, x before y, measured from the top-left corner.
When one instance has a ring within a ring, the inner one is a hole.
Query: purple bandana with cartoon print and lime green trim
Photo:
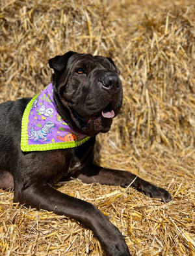
[[[49,84],[27,105],[21,123],[23,152],[80,146],[90,137],[74,131],[57,112],[53,85]]]

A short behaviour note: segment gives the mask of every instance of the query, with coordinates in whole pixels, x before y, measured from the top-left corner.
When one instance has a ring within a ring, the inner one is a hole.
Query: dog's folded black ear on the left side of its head
[[[66,68],[68,63],[68,59],[73,56],[75,52],[66,52],[66,54],[62,56],[55,56],[52,59],[49,59],[49,67],[53,69],[55,72],[60,72]]]

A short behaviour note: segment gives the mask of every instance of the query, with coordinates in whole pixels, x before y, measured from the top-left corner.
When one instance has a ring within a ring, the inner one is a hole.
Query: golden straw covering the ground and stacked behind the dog
[[[112,57],[121,71],[123,107],[111,131],[98,135],[96,161],[166,188],[173,200],[164,204],[133,188],[79,180],[60,191],[109,216],[133,256],[194,256],[194,0],[0,5],[0,102],[43,89],[50,57],[68,50]],[[103,255],[94,234],[77,221],[12,199],[12,191],[0,190],[0,255]]]

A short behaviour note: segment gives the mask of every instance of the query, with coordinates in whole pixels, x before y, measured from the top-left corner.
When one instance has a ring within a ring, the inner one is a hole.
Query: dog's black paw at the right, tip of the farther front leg
[[[162,202],[170,202],[172,197],[166,189],[162,189],[161,187],[157,187],[156,185],[150,184],[149,182],[145,182],[144,184],[138,185],[138,191],[144,192],[148,197],[153,197],[155,199],[161,199]]]

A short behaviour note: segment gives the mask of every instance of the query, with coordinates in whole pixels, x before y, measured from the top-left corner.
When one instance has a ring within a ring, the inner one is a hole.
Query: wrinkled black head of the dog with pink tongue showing
[[[49,59],[59,113],[81,133],[95,136],[110,129],[122,106],[120,71],[112,59],[68,52]]]

